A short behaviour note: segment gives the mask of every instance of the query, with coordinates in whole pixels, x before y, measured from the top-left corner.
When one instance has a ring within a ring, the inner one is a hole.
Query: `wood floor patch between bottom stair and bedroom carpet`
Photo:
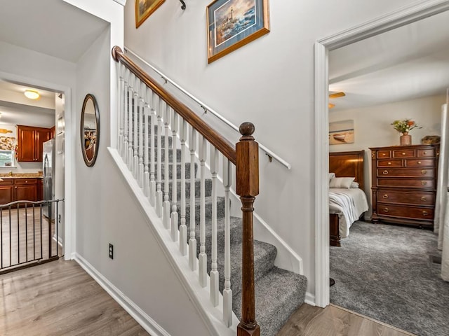
[[[330,304],[326,308],[302,304],[277,336],[415,336]]]

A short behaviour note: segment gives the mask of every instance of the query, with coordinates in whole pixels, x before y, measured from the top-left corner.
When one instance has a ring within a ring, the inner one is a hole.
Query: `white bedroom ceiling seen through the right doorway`
[[[330,110],[445,94],[449,11],[329,52]]]

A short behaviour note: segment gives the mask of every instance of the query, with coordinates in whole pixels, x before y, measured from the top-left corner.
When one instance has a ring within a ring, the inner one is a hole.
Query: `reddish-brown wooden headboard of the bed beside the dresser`
[[[329,153],[329,172],[337,177],[355,177],[359,188],[364,190],[363,159],[365,151]]]

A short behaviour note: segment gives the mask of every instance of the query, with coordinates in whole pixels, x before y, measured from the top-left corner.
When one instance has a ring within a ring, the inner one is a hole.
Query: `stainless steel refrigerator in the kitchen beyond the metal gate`
[[[55,198],[55,139],[43,143],[42,151],[42,171],[43,171],[43,200],[54,200]],[[49,221],[53,220],[53,203],[43,206],[43,215]]]

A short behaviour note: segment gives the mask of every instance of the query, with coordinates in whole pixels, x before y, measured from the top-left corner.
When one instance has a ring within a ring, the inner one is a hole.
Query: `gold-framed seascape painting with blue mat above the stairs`
[[[215,0],[206,18],[208,63],[269,33],[268,0]]]

